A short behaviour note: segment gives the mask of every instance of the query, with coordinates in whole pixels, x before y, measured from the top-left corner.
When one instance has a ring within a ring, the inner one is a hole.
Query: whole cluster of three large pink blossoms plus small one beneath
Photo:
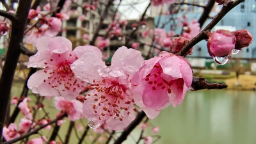
[[[155,118],[170,104],[179,105],[192,83],[188,61],[169,52],[143,60],[140,51],[123,46],[108,67],[98,47],[72,51],[71,42],[61,36],[39,38],[36,48],[28,67],[42,69],[29,78],[28,88],[56,97],[56,108],[70,120],[83,113],[93,124],[106,123],[115,131],[127,127],[140,109]],[[85,97],[79,95],[83,90],[88,90]]]

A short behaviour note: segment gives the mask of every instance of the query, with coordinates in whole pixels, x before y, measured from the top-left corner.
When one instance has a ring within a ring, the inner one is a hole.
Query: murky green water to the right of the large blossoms
[[[177,108],[152,120],[159,125],[157,143],[256,143],[255,92],[188,92]]]

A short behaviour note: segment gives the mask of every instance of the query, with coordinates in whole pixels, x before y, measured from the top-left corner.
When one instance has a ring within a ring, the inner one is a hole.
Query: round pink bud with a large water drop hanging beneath
[[[227,56],[235,48],[236,36],[220,29],[209,34],[207,47],[210,56]]]

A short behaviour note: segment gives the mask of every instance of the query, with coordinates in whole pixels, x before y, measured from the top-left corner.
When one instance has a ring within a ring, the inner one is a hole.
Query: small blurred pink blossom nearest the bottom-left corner
[[[12,123],[8,126],[8,128],[3,127],[3,137],[6,141],[13,140],[20,136],[19,132],[17,131],[17,125]]]

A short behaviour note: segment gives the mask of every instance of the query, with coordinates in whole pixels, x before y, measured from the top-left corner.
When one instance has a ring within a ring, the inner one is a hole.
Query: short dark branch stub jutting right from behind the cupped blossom
[[[227,84],[224,83],[210,83],[205,81],[204,77],[193,77],[193,82],[191,84],[193,90],[202,90],[202,89],[222,89],[227,88]]]

